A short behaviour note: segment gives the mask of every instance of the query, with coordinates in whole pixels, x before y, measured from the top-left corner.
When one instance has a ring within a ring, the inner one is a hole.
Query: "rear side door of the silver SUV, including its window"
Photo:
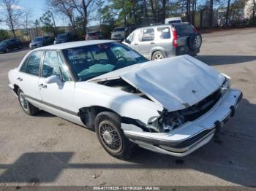
[[[138,52],[150,59],[151,49],[156,46],[154,28],[145,28],[140,31],[140,42]]]

